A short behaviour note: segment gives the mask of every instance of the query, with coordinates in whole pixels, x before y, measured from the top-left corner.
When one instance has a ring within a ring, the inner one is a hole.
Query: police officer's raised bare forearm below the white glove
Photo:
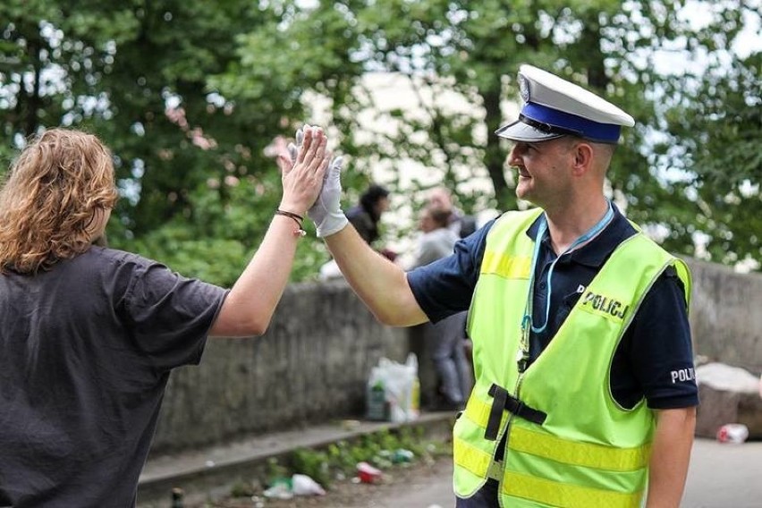
[[[344,278],[378,321],[412,326],[428,320],[402,268],[371,249],[354,227],[347,225],[325,240]]]

